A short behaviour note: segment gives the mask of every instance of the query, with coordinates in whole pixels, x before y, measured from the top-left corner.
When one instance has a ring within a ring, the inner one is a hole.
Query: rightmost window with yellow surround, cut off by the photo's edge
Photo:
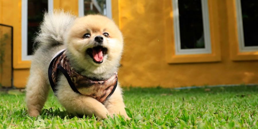
[[[226,1],[230,58],[234,61],[258,60],[257,4],[256,1]]]

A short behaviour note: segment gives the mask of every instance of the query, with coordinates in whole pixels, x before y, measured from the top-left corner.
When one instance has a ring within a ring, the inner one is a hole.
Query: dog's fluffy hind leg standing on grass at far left
[[[30,77],[26,85],[26,103],[28,114],[38,116],[47,99],[49,86],[46,84],[44,72],[41,69],[31,67]]]

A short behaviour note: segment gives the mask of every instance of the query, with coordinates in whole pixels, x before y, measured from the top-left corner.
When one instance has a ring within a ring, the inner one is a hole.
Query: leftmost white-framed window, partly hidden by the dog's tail
[[[22,0],[22,60],[30,60],[33,39],[36,36],[44,11],[53,10],[53,0]]]

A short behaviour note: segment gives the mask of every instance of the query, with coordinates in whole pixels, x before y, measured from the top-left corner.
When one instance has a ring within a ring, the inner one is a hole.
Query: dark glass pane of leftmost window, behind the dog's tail
[[[47,10],[48,0],[28,0],[28,55],[33,52],[33,39]]]

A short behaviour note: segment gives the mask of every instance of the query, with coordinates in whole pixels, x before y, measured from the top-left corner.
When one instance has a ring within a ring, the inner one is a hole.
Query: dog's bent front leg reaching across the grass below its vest
[[[63,75],[60,77],[57,88],[57,98],[68,112],[88,116],[94,114],[97,119],[107,118],[109,115],[106,107],[93,97],[75,93]]]

